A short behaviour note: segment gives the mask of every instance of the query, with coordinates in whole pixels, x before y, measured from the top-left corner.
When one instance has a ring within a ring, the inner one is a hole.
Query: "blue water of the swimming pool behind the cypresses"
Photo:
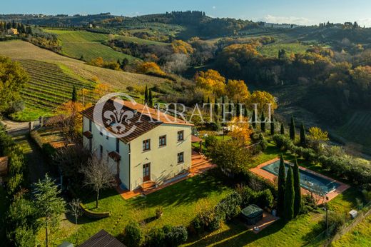
[[[288,167],[290,164],[285,163],[285,171],[288,173]],[[265,171],[268,171],[269,173],[274,174],[275,176],[278,176],[278,170],[280,168],[280,161],[275,161],[267,166],[263,166],[262,169]],[[299,168],[299,176],[300,176],[300,186],[307,189],[308,191],[323,191],[324,193],[329,193],[330,191],[333,191],[335,188],[340,186],[339,183],[336,183],[335,181],[330,181],[327,178],[322,178],[320,176],[317,176],[315,174],[312,174],[308,171],[304,171]]]

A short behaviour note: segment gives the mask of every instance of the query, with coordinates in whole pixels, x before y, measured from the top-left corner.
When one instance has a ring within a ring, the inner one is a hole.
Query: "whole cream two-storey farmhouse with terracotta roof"
[[[83,111],[83,145],[110,163],[121,188],[133,191],[143,183],[161,185],[188,171],[193,125],[142,104],[121,102],[114,104],[110,99],[101,106],[103,113],[111,115],[130,112],[130,121],[122,121],[121,125],[115,121],[103,122],[104,126],[95,123],[97,105]],[[114,130],[118,127],[134,131],[117,137]]]

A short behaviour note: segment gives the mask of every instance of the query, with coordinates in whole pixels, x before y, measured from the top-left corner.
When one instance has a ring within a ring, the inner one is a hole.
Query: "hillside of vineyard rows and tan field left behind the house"
[[[26,109],[14,116],[19,121],[53,114],[59,104],[71,97],[73,85],[92,89],[96,84],[94,81],[99,81],[115,90],[126,91],[127,86],[152,86],[166,81],[154,76],[90,66],[25,41],[0,42],[0,55],[19,61],[31,76],[22,91]]]

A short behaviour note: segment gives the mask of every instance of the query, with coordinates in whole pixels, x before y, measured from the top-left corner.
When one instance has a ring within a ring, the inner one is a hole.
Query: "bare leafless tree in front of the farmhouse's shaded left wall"
[[[96,191],[96,208],[98,208],[101,189],[115,186],[115,178],[111,168],[106,161],[93,155],[86,166],[81,168],[81,173],[85,176],[84,184]]]

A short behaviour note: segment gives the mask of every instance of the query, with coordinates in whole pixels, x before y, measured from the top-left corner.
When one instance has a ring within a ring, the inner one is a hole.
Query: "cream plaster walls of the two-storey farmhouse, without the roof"
[[[92,121],[90,130],[90,121],[83,116],[83,132],[91,131],[92,134],[90,139],[83,136],[83,145],[98,156],[107,158],[113,173],[118,173],[121,183],[130,191],[146,181],[161,184],[191,166],[190,125],[161,124],[128,143],[119,140],[117,153],[121,159],[117,163],[108,156],[108,153],[116,151],[116,137],[107,137],[104,131],[101,134],[100,128]],[[179,131],[183,131],[183,141],[178,141]],[[160,146],[161,136],[166,136],[164,146]],[[143,151],[143,141],[146,140],[149,140],[150,149]]]

